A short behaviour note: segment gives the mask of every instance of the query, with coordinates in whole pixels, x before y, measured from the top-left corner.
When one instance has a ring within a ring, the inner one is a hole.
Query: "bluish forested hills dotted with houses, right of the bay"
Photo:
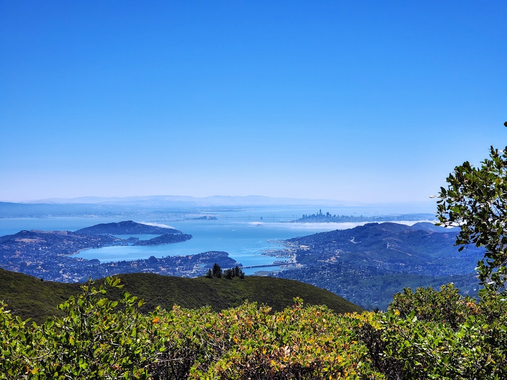
[[[434,227],[368,223],[289,239],[287,249],[302,268],[278,276],[328,289],[369,310],[385,310],[392,295],[406,287],[438,288],[454,282],[464,294],[475,296],[479,287],[474,269],[483,249],[458,252],[457,232]]]

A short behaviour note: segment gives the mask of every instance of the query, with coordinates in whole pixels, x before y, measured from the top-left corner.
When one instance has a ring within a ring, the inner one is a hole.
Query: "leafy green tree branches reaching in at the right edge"
[[[507,127],[507,122],[505,122]],[[486,248],[478,263],[481,285],[490,291],[505,291],[507,280],[507,146],[490,147],[489,158],[478,168],[468,161],[454,168],[441,187],[439,224],[459,225],[456,245]]]

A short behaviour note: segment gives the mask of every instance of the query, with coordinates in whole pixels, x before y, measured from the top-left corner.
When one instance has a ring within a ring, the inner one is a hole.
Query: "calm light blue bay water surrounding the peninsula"
[[[340,210],[322,212],[340,213]],[[341,210],[343,211],[343,210]],[[349,214],[350,213],[350,210]],[[363,210],[364,211],[364,210]],[[156,223],[170,226],[193,238],[186,242],[159,246],[124,246],[89,249],[80,253],[87,259],[102,262],[136,260],[150,256],[165,257],[190,255],[206,251],[226,251],[229,256],[243,265],[266,265],[279,258],[264,255],[263,252],[279,249],[277,240],[286,240],[317,232],[332,231],[354,227],[360,223],[288,223],[286,221],[301,217],[303,213],[316,213],[314,209],[293,209],[290,211],[263,209],[261,211],[209,212],[218,220],[139,220],[135,218],[95,218],[95,217],[55,217],[55,218],[0,218],[0,236],[15,234],[21,230],[64,230],[75,231],[98,223],[134,220],[143,223]],[[195,216],[201,216],[196,214]],[[188,214],[187,214],[188,216]],[[362,224],[362,223],[361,223]],[[147,239],[153,236],[136,236]],[[246,274],[259,270],[275,270],[276,267],[245,269]]]

